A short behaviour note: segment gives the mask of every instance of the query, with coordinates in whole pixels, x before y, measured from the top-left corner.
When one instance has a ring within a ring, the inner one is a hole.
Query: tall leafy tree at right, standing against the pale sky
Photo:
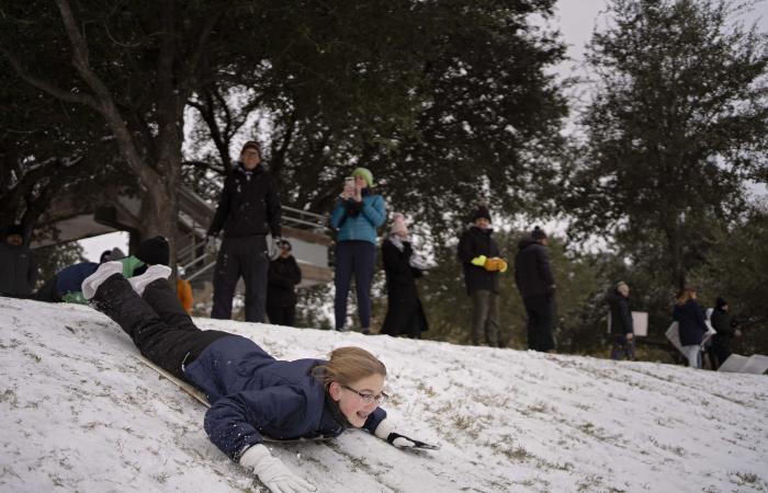
[[[731,27],[732,9],[613,0],[588,54],[598,87],[564,182],[572,232],[612,236],[669,289],[704,262],[712,221],[745,209],[744,180],[768,164],[766,36]]]

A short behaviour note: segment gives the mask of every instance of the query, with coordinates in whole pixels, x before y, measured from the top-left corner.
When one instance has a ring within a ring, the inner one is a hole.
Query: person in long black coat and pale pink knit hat
[[[382,242],[382,259],[387,310],[380,333],[421,339],[421,332],[429,329],[416,288],[416,279],[423,275],[423,264],[414,254],[405,217],[399,213],[394,215],[389,238]]]

